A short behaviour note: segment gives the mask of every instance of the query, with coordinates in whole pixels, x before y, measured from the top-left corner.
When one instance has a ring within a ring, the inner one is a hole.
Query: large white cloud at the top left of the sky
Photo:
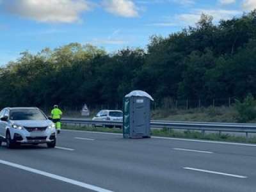
[[[39,22],[76,22],[79,13],[90,10],[84,0],[13,0],[8,11]]]

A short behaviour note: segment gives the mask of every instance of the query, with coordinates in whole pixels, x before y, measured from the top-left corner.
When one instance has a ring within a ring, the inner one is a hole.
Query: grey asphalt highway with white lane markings
[[[256,191],[256,145],[62,131],[0,147],[0,191]]]

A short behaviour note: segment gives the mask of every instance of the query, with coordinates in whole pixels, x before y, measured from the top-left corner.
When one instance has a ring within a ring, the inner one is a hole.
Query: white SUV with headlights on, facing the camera
[[[38,108],[4,108],[0,113],[0,145],[2,142],[7,148],[39,143],[54,148],[55,125]]]

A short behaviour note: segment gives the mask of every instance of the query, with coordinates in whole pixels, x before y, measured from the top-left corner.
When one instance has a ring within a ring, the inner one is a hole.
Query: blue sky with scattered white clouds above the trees
[[[256,0],[0,0],[0,65],[72,42],[145,48],[150,36],[193,26],[202,13],[218,23],[255,8]]]

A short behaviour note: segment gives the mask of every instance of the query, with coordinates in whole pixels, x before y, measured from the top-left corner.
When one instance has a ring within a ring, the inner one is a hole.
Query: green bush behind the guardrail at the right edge
[[[235,107],[238,122],[246,123],[256,118],[256,100],[252,95],[248,95],[243,102],[236,100]]]

